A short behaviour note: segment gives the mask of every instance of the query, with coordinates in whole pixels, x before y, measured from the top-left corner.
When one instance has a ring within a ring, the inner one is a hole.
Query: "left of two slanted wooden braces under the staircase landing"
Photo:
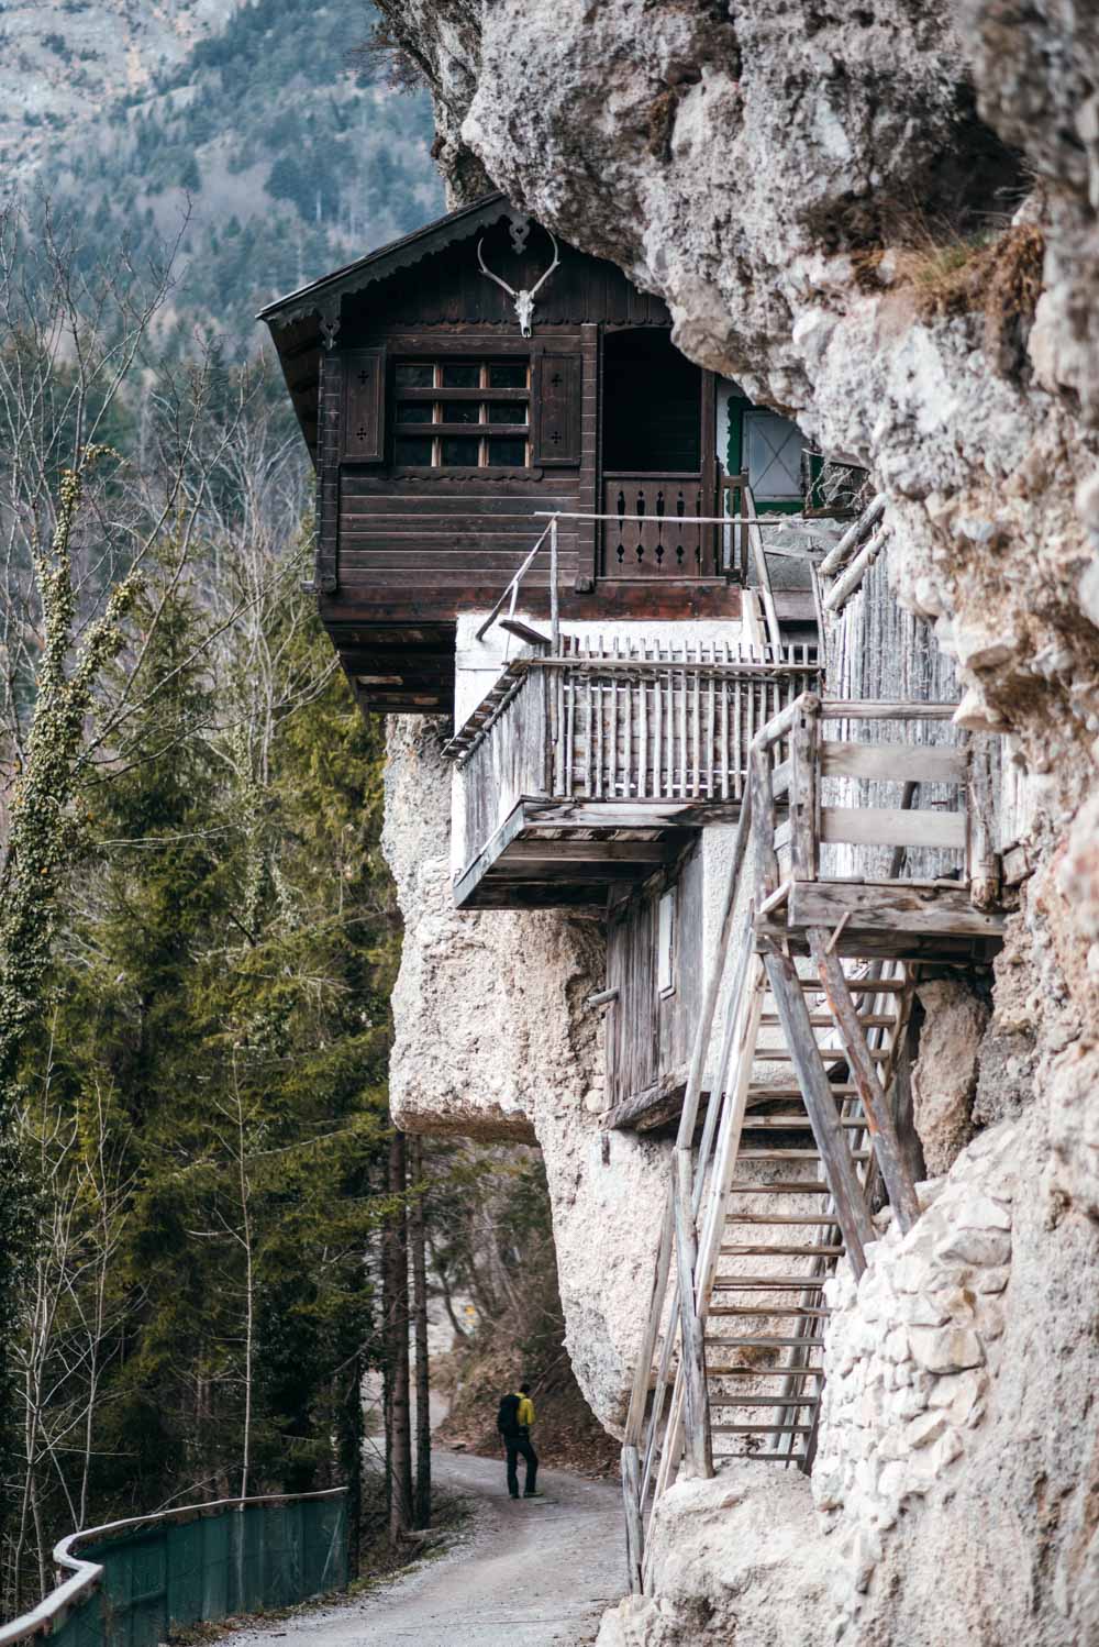
[[[865,1270],[865,1248],[875,1235],[856,1163],[851,1159],[844,1128],[839,1125],[836,1095],[824,1072],[821,1049],[813,1034],[809,1010],[805,1005],[793,962],[788,955],[765,954],[763,965],[798,1074],[813,1136],[821,1153],[824,1178],[836,1202],[836,1222],[844,1234],[847,1258],[856,1280],[859,1280]]]

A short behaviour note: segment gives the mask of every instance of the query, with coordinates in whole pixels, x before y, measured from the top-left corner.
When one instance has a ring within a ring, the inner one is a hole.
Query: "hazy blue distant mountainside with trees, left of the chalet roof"
[[[443,209],[426,96],[355,51],[359,0],[49,0],[0,8],[0,175],[86,255],[181,232],[181,339],[248,348],[270,296]]]

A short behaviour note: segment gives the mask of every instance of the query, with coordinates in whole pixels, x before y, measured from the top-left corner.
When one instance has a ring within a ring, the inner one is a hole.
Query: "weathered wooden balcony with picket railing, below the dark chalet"
[[[675,863],[735,820],[752,738],[818,679],[805,647],[564,646],[515,659],[446,748],[459,909],[602,904]]]

